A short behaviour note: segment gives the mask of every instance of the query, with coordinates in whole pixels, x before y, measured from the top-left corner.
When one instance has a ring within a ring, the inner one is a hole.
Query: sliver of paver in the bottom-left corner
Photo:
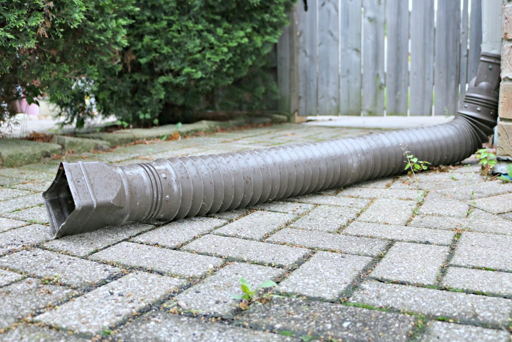
[[[0,334],[0,340],[3,342],[85,342],[90,339],[81,338],[75,335],[69,335],[63,332],[52,330],[46,327],[20,325],[9,330],[5,334]]]

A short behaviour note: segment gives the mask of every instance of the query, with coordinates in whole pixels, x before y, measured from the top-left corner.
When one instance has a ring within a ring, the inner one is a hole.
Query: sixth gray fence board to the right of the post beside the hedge
[[[411,11],[411,115],[432,114],[434,0],[413,2]]]

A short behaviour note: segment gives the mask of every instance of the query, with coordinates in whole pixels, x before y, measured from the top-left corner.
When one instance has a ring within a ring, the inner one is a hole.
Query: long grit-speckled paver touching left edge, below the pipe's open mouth
[[[0,266],[32,276],[52,277],[58,283],[77,288],[96,285],[121,272],[117,267],[38,248],[4,256]]]

